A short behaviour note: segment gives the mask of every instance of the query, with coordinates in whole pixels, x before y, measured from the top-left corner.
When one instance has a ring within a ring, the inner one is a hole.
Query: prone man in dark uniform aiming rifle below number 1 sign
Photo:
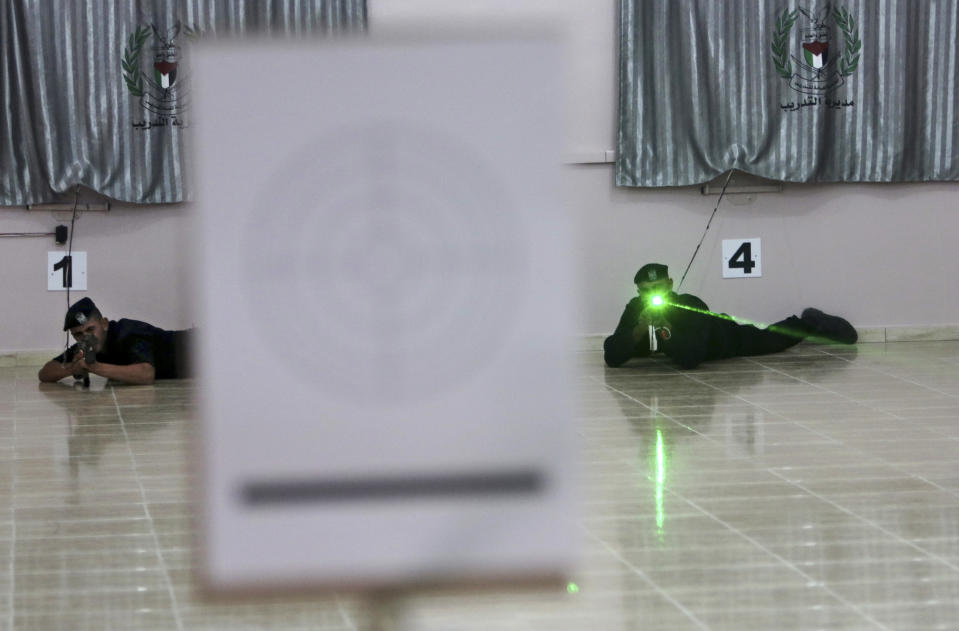
[[[40,369],[40,381],[60,381],[88,373],[115,381],[147,385],[156,379],[190,376],[193,329],[164,331],[139,320],[104,318],[89,298],[67,311],[63,330],[77,340]],[[93,352],[92,361],[82,347]]]

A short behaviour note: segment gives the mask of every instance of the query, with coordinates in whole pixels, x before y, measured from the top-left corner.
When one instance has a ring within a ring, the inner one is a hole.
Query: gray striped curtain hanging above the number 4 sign
[[[621,0],[616,183],[959,179],[957,0]]]

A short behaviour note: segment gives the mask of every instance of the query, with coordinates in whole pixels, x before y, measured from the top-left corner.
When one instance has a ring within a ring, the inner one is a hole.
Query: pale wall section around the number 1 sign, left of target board
[[[134,318],[166,329],[192,325],[188,210],[178,206],[114,207],[76,222],[73,249],[87,252],[88,291],[110,319]],[[0,232],[52,232],[69,213],[0,209]],[[0,351],[59,348],[66,293],[47,291],[53,237],[0,239]]]

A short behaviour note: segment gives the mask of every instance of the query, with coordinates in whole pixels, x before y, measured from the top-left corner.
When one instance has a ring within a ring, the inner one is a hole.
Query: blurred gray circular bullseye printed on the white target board
[[[294,375],[395,405],[499,352],[523,299],[525,229],[465,142],[367,124],[312,139],[267,182],[251,213],[267,220],[246,230],[249,307]]]

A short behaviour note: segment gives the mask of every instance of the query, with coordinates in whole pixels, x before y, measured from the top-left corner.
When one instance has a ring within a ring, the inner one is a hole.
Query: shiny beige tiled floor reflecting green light
[[[410,596],[393,627],[356,595],[196,593],[191,383],[0,368],[0,629],[959,628],[959,342],[579,359],[573,582]]]

